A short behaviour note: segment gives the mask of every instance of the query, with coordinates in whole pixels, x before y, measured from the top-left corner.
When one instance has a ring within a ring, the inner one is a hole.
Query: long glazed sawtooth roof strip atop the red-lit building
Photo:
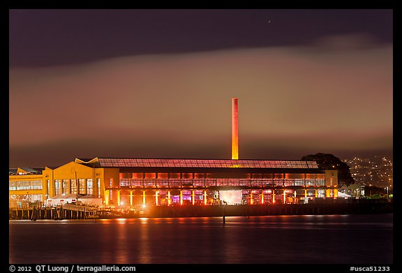
[[[95,158],[94,158],[95,159]],[[94,163],[94,159],[91,163]],[[96,158],[101,168],[295,168],[316,169],[315,161],[297,160],[230,160],[230,159],[153,159]],[[83,162],[84,163],[84,162]]]

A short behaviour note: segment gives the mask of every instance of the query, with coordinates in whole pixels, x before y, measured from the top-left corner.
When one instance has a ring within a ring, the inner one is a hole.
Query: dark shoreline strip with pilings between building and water
[[[271,215],[332,215],[332,214],[385,214],[394,212],[392,200],[314,200],[308,204],[275,205],[174,205],[150,206],[135,212],[112,209],[104,211],[63,207],[9,209],[9,220],[63,220],[63,219],[131,219],[131,218],[179,218],[224,216],[271,216]]]

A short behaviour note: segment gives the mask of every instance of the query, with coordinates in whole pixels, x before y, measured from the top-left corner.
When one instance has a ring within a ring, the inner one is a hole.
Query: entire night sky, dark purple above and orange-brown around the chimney
[[[9,167],[392,155],[392,10],[9,10]]]

